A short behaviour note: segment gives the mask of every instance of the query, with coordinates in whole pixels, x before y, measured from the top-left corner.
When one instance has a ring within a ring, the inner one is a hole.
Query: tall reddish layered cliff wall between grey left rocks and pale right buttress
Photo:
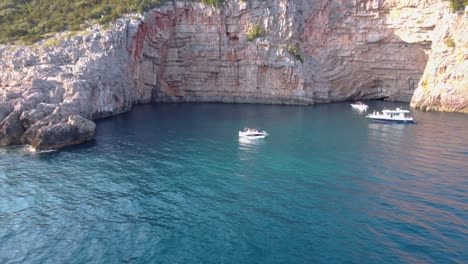
[[[147,101],[409,101],[441,8],[437,1],[231,1],[221,10],[179,3],[139,27],[136,87]],[[265,34],[248,41],[255,25]],[[288,52],[294,45],[303,63]]]

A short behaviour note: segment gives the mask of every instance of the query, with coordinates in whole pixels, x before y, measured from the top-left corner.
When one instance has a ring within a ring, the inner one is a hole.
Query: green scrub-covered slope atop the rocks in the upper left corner
[[[214,1],[214,0],[211,0]],[[79,30],[125,13],[143,12],[166,0],[0,0],[0,43],[34,43],[49,33]]]

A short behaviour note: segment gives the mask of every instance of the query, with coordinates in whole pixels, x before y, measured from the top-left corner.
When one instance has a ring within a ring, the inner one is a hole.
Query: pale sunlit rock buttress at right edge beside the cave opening
[[[429,61],[411,106],[468,113],[468,13],[446,14],[432,38]]]

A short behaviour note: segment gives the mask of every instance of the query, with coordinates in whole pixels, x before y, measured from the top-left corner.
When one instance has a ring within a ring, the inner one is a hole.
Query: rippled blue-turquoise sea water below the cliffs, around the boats
[[[145,105],[82,146],[0,149],[0,263],[467,263],[468,115],[413,116]]]

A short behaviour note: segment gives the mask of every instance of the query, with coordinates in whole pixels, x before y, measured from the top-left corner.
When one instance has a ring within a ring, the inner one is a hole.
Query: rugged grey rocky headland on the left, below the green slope
[[[92,119],[125,112],[132,89],[131,37],[138,21],[0,48],[0,145],[55,149],[92,139]]]

